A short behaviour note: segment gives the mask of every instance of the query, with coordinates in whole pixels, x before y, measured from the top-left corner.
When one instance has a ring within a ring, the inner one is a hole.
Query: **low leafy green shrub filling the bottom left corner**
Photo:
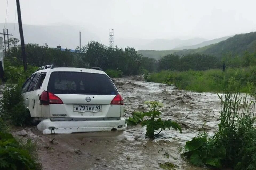
[[[0,160],[2,170],[41,169],[38,160],[33,159],[9,133],[0,132]]]

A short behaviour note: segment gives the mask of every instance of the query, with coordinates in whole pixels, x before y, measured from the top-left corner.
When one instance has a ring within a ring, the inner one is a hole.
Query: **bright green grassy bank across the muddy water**
[[[239,82],[240,92],[251,92],[255,87],[256,67],[226,69],[224,73],[220,69],[182,72],[165,70],[150,74],[147,80],[157,83],[174,84],[179,89],[184,90],[222,92],[231,77]]]

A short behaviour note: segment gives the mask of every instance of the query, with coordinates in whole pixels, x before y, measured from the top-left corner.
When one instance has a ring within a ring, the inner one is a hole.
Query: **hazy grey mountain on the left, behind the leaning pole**
[[[4,24],[0,23],[2,30]],[[20,39],[19,25],[8,23],[7,29],[12,37]],[[52,24],[52,25],[27,25],[22,24],[24,41],[27,43],[37,43],[42,45],[47,43],[50,47],[61,45],[62,48],[75,49],[79,46],[79,31],[81,31],[81,44],[86,45],[91,40],[100,41],[99,37],[84,27],[76,25]],[[2,32],[2,31],[1,31]]]

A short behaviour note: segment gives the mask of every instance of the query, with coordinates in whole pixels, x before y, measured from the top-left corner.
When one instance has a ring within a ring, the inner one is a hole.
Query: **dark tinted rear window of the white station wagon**
[[[55,94],[117,95],[110,78],[96,73],[52,72],[47,90]]]

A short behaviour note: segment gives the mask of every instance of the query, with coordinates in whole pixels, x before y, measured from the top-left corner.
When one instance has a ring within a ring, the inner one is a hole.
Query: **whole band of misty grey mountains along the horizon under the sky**
[[[14,26],[15,25],[15,26]],[[0,23],[0,30],[4,27],[3,23]],[[18,23],[7,23],[9,33],[13,34],[13,37],[19,38]],[[89,41],[99,41],[105,45],[109,44],[109,35],[100,38],[97,33],[86,29],[84,27],[76,25],[27,25],[23,24],[23,33],[25,43],[37,43],[42,45],[47,43],[50,47],[56,47],[61,45],[62,48],[75,49],[79,46],[79,31],[81,31],[81,44],[86,45]],[[1,31],[2,32],[2,31]],[[125,48],[127,46],[134,47],[136,50],[170,50],[170,49],[184,49],[184,48],[198,48],[212,43],[218,43],[219,41],[227,39],[215,39],[208,41],[203,38],[192,38],[187,40],[181,39],[126,39],[115,38],[114,45]],[[122,37],[118,35],[117,37]]]

